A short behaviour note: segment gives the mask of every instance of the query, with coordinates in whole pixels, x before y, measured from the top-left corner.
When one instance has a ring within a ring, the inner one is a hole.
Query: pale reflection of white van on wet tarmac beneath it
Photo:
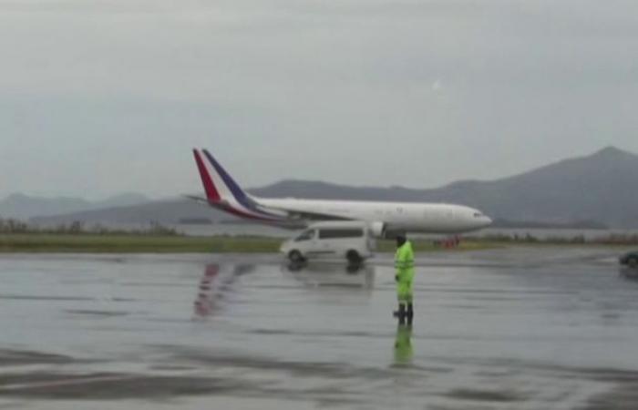
[[[288,263],[283,272],[309,287],[359,288],[372,290],[375,287],[375,267],[365,263]]]

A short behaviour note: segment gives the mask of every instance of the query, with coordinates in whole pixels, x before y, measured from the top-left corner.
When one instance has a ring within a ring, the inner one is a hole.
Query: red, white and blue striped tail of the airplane
[[[286,220],[286,212],[269,210],[251,198],[223,169],[206,149],[193,149],[193,156],[200,171],[206,200],[211,206],[233,215],[265,222]]]

